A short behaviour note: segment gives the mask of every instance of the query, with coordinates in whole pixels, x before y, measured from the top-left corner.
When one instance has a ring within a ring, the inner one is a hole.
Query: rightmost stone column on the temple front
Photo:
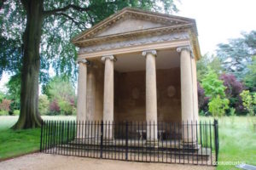
[[[184,146],[191,147],[195,143],[195,126],[191,126],[191,122],[195,123],[194,108],[194,82],[192,74],[192,56],[189,46],[177,48],[180,53],[180,76],[181,76],[181,99],[182,99],[182,121],[183,121],[183,143]],[[187,124],[189,122],[189,125]],[[192,138],[193,135],[193,138]]]

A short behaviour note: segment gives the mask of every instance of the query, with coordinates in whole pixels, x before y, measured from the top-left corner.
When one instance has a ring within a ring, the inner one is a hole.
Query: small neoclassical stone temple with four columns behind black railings
[[[198,119],[195,20],[124,8],[72,42],[79,47],[79,121]]]

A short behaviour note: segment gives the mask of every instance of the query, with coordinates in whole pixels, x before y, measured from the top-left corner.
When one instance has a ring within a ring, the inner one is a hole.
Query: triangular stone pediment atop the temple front
[[[179,16],[124,8],[96,26],[73,38],[73,43],[97,37],[108,37],[136,31],[147,31],[166,26],[195,24],[195,20]]]

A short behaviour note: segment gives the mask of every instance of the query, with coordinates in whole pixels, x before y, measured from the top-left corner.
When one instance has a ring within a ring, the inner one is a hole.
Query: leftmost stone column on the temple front
[[[78,80],[78,106],[77,106],[77,121],[84,123],[86,119],[86,82],[87,82],[87,65],[89,61],[86,59],[79,59],[79,80]],[[78,126],[79,131],[77,138],[84,138],[84,134],[81,133],[81,126]]]

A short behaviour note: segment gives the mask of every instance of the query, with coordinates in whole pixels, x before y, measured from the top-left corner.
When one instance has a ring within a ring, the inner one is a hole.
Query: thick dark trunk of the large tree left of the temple
[[[38,113],[38,77],[44,0],[21,0],[21,3],[26,10],[26,30],[23,34],[20,117],[15,129],[40,127],[42,120]]]

